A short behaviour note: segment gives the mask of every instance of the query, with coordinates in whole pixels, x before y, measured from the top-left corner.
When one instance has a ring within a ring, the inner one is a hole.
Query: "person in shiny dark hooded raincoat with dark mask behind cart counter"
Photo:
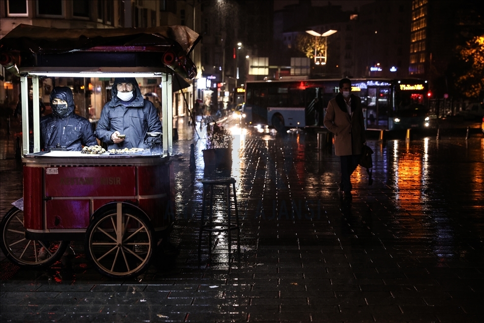
[[[56,86],[50,93],[52,113],[41,118],[41,146],[43,150],[61,148],[81,151],[82,146],[97,145],[89,120],[74,113],[71,88]]]

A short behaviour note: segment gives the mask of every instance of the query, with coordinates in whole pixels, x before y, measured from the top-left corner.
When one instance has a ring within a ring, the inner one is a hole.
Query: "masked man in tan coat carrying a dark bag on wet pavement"
[[[351,196],[351,174],[358,167],[361,147],[366,142],[361,100],[351,94],[351,81],[339,81],[339,94],[329,101],[324,125],[334,134],[334,151],[341,158],[339,191]]]

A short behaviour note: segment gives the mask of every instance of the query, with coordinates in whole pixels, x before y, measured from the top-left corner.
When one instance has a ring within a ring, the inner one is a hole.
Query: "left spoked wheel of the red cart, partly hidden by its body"
[[[14,264],[24,267],[50,267],[62,257],[69,241],[40,241],[25,238],[23,211],[13,207],[0,223],[5,256]]]

